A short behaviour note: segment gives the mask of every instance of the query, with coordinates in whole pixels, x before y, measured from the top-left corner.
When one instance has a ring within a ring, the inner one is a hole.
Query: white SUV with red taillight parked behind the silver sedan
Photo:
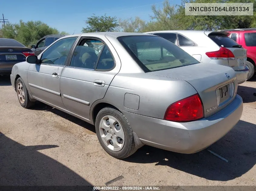
[[[236,72],[238,84],[247,80],[247,50],[230,39],[228,32],[203,30],[162,30],[146,32],[163,37],[204,63],[229,66]]]

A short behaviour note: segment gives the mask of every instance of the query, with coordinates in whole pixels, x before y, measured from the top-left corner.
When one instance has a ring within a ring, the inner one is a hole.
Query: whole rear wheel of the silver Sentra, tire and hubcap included
[[[95,127],[101,146],[112,157],[122,159],[136,151],[130,123],[115,108],[101,109],[96,117]]]

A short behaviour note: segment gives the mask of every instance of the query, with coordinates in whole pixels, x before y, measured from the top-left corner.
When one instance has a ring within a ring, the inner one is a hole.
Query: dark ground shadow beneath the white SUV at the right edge
[[[243,103],[256,101],[256,88],[238,85],[237,94],[243,98]]]

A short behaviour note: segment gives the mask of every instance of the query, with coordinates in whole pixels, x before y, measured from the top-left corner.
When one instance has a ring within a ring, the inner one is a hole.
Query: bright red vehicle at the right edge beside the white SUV
[[[256,63],[256,28],[221,30],[230,33],[229,37],[247,49],[246,66],[249,68],[248,79],[254,76]]]

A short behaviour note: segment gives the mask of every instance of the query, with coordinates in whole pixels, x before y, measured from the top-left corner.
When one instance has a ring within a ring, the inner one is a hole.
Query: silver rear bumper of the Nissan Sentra
[[[238,123],[243,112],[243,100],[236,95],[226,108],[215,115],[186,123],[122,112],[143,144],[190,154],[218,141]]]

